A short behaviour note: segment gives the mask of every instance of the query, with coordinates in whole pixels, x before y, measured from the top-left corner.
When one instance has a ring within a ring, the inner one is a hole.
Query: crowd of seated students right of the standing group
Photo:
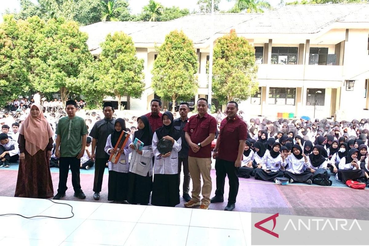
[[[369,186],[369,119],[315,119],[313,124],[303,119],[251,119],[250,125],[239,177],[274,181],[284,176],[290,182],[329,186],[332,173],[343,183],[355,180]],[[271,146],[273,141],[276,142]]]

